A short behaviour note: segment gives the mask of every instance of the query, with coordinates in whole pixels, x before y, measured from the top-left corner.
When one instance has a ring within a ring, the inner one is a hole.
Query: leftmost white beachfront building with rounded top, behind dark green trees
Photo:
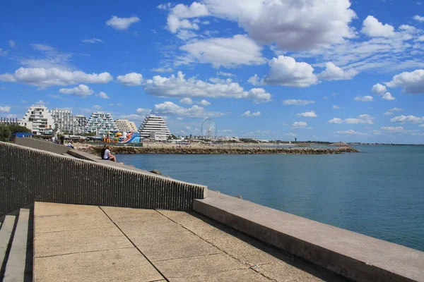
[[[30,109],[28,109],[19,124],[30,129],[33,135],[45,136],[53,134],[54,121],[46,106],[30,106]]]

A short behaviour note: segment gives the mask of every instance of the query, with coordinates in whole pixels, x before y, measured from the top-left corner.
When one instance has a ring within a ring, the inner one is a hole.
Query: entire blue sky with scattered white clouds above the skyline
[[[0,116],[31,104],[175,135],[424,143],[424,2],[2,1]]]

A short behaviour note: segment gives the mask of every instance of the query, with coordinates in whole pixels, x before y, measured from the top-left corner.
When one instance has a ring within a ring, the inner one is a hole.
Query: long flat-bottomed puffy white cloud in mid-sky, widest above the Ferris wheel
[[[144,83],[144,90],[158,97],[244,98],[252,99],[255,103],[271,101],[271,94],[262,88],[245,91],[238,83],[230,80],[225,83],[210,83],[196,78],[186,79],[181,71],[177,76],[171,75],[169,78],[153,76]]]

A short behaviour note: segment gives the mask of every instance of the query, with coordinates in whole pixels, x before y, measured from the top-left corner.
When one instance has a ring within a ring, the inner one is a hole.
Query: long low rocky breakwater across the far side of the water
[[[101,146],[78,148],[83,152],[99,155]],[[353,147],[326,148],[148,148],[148,147],[112,147],[113,154],[344,154],[357,153]]]

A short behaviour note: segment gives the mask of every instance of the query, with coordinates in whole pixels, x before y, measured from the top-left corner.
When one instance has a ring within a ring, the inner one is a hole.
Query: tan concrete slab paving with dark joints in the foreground
[[[199,214],[35,203],[34,281],[341,281]]]

